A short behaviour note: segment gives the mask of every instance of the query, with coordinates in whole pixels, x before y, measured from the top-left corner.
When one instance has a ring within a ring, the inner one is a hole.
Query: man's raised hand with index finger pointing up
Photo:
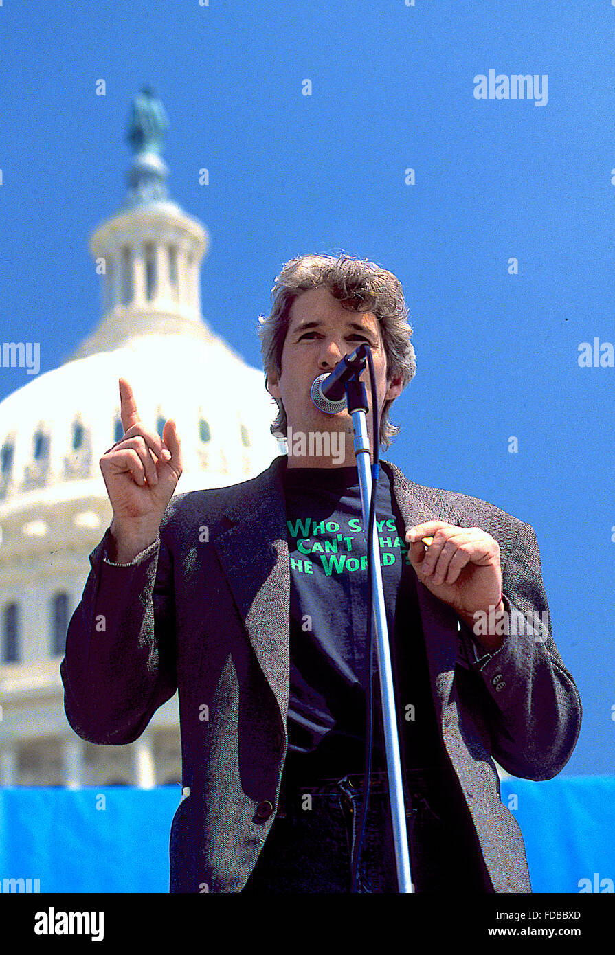
[[[117,562],[123,563],[156,540],[182,462],[175,421],[165,423],[161,439],[157,432],[144,428],[125,378],[119,379],[119,401],[124,435],[99,463],[114,511],[111,533]]]

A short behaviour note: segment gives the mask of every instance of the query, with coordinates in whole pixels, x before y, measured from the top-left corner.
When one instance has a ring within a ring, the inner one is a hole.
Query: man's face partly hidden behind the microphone
[[[371,312],[343,308],[326,286],[310,288],[295,299],[290,308],[282,351],[282,373],[278,380],[269,376],[267,387],[268,392],[284,404],[287,427],[292,428],[293,432],[342,432],[346,435],[347,450],[352,455],[352,418],[348,409],[338,414],[321,412],[312,404],[309,390],[314,378],[333,371],[342,357],[358,348],[361,342],[367,342],[371,347],[378,409],[381,413],[384,401],[396,398],[401,393],[402,378],[400,376],[394,381],[387,381],[387,361],[380,326]],[[360,380],[366,383],[371,439],[371,389],[367,367],[361,372]],[[349,458],[348,463],[350,461],[354,461],[354,456]],[[316,466],[327,463],[315,462]]]

